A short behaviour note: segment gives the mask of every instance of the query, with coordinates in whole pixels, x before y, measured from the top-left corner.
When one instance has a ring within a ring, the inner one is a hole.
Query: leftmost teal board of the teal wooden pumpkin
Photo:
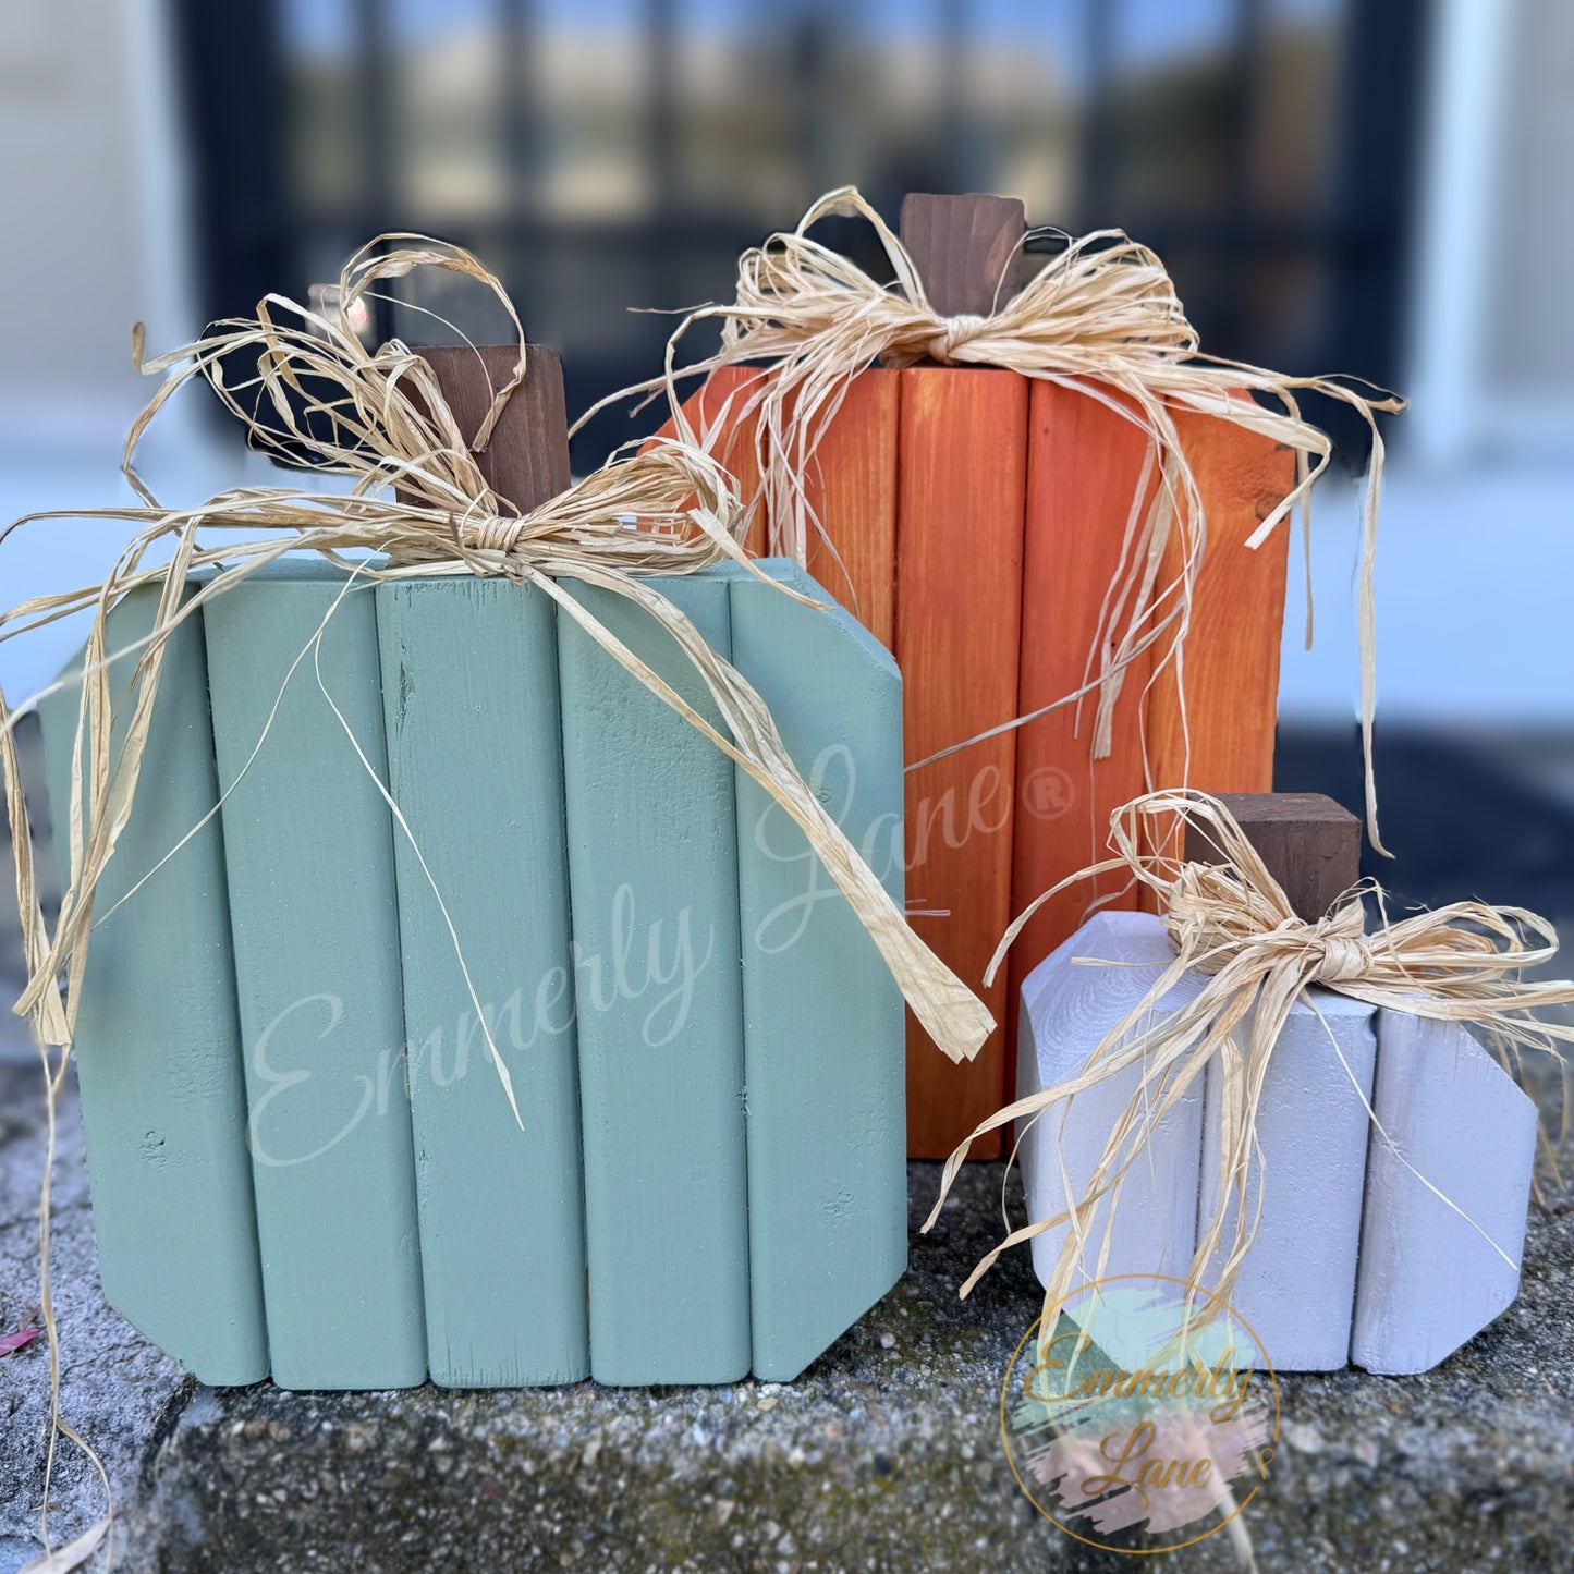
[[[107,648],[153,628],[132,590]],[[110,669],[120,748],[135,656]],[[80,671],[80,663],[77,663]],[[39,705],[55,844],[69,863],[72,686]],[[201,615],[172,637],[131,820],[94,900],[76,1062],[104,1294],[203,1382],[268,1376],[224,842],[214,817],[110,911],[217,801]]]

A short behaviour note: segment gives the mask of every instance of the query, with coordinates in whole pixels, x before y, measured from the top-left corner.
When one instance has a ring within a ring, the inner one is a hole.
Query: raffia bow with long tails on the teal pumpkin
[[[466,445],[428,364],[397,340],[367,349],[349,323],[351,307],[376,293],[379,282],[423,266],[458,272],[491,290],[519,338],[513,376],[497,390],[474,447]],[[708,737],[792,815],[937,1045],[952,1059],[977,1053],[993,1028],[982,1003],[907,926],[885,886],[798,774],[759,694],[648,582],[724,560],[759,575],[735,537],[741,515],[727,472],[702,449],[666,441],[614,455],[600,471],[527,515],[519,515],[486,485],[475,452],[485,447],[510,394],[527,375],[527,351],[519,318],[502,285],[469,253],[423,236],[379,236],[345,266],[335,318],[271,294],[258,304],[255,318],[220,323],[195,343],[154,360],[143,360],[139,329],[134,357],[142,370],[165,373],[126,439],[123,469],[140,504],[80,513],[61,510],[28,519],[123,519],[135,534],[101,584],[38,597],[0,615],[3,641],[74,612],[93,612],[80,669],[71,801],[65,814],[71,881],[54,933],[44,921],[33,870],[13,737],[16,713],[0,693],[0,765],[16,845],[17,905],[28,974],[14,1009],[30,1017],[41,1044],[50,1133],[76,1028],[79,981],[94,921],[93,897],[132,812],[170,634],[208,601],[228,593],[286,551],[301,549],[315,551],[365,581],[472,573],[504,575],[538,586],[614,661]],[[238,379],[236,368],[241,368]],[[253,447],[294,463],[304,455],[313,469],[348,475],[354,482],[348,494],[239,488],[197,508],[162,507],[137,474],[135,450],[168,398],[194,379],[209,384],[246,427]],[[630,521],[636,529],[630,529]],[[27,519],[17,521],[24,523]],[[205,546],[200,540],[205,530],[222,530],[230,538]],[[150,556],[170,543],[170,559],[150,567]],[[342,556],[345,552],[357,556],[349,560]],[[359,556],[364,552],[381,557],[367,560]],[[192,570],[212,570],[212,576],[187,592]],[[622,595],[656,619],[715,697],[730,735],[705,721],[562,590],[556,582],[559,576]],[[153,630],[124,650],[107,652],[110,608],[126,592],[143,586],[156,586],[159,592]],[[774,589],[796,595],[781,586]],[[313,650],[320,655],[316,641],[301,660]],[[124,741],[112,756],[110,669],[131,656],[135,656],[134,704]],[[381,782],[378,787],[386,793]],[[460,960],[463,965],[463,957]],[[66,981],[63,996],[61,977]],[[512,1102],[507,1070],[478,1006],[477,1017]],[[60,1047],[54,1058],[50,1045]],[[515,1113],[519,1114],[518,1108]],[[58,1338],[49,1300],[47,1171],[41,1198],[41,1259],[52,1371],[52,1462],[57,1435],[76,1439],[76,1434],[61,1420],[58,1402]]]

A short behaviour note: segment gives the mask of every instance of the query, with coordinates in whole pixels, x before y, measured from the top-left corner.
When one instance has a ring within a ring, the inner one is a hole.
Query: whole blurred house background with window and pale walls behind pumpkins
[[[0,0],[0,39],[6,518],[129,496],[132,321],[173,346],[382,230],[475,249],[578,411],[660,367],[671,320],[628,307],[730,296],[738,250],[828,187],[892,222],[905,190],[1015,194],[1157,247],[1210,351],[1410,395],[1387,427],[1382,874],[1574,918],[1565,0]],[[423,340],[398,309],[378,327]],[[209,416],[178,406],[150,444],[161,497],[258,475]],[[636,430],[600,419],[576,466]],[[1365,450],[1333,430],[1280,785],[1354,804]],[[88,581],[123,537],[14,534],[0,600]],[[8,696],[77,637],[0,645]]]

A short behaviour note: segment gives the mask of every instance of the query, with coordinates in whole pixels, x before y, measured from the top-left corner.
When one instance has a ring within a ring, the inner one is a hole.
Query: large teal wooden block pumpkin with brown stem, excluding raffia
[[[433,360],[478,379],[450,398],[474,430],[480,364]],[[482,456],[523,507],[556,474],[518,430],[541,394]],[[567,475],[560,416],[548,438]],[[660,589],[900,903],[874,853],[900,845],[889,653],[732,567]],[[170,645],[127,888],[208,820],[94,943],[76,1055],[105,1291],[205,1380],[789,1379],[902,1273],[874,941],[787,815],[554,606],[285,562]],[[699,699],[652,620],[597,611]],[[112,634],[148,615],[127,598]],[[66,689],[44,718],[63,795],[76,716]]]

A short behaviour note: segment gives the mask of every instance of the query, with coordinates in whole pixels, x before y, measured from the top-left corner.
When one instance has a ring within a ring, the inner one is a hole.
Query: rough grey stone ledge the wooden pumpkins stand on
[[[0,1327],[36,1300],[36,1058],[0,1039]],[[935,1165],[911,1168],[914,1220]],[[999,1451],[998,1384],[1036,1314],[1026,1253],[974,1295],[999,1166],[971,1166],[897,1289],[795,1384],[291,1395],[181,1376],[98,1294],[74,1099],[61,1119],[55,1284],[65,1409],[121,1509],[123,1571],[1130,1571],[1040,1519]],[[1018,1193],[1012,1188],[1012,1203]],[[1259,1566],[1566,1568],[1574,1519],[1574,1207],[1532,1220],[1524,1291],[1424,1377],[1283,1380],[1284,1431],[1248,1511]],[[0,1360],[0,1574],[36,1552],[39,1346]],[[61,1450],[57,1541],[101,1513]],[[1225,1539],[1166,1569],[1232,1568]]]

